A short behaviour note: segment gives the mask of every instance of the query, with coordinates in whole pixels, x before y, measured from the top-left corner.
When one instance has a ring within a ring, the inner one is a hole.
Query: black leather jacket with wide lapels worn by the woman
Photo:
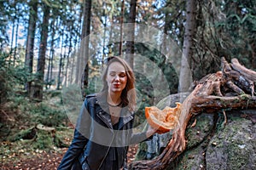
[[[146,133],[132,133],[134,114],[127,107],[121,110],[119,130],[113,130],[108,111],[106,95],[103,93],[86,97],[74,131],[73,142],[58,169],[71,169],[77,159],[83,169],[100,169],[102,162],[109,155],[111,146],[117,147],[118,162],[125,167],[128,145],[143,141],[146,139]]]

